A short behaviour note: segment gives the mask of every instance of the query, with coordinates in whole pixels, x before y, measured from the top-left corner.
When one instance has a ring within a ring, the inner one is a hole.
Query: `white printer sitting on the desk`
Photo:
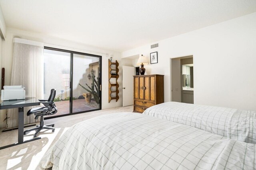
[[[25,87],[22,85],[5,85],[1,90],[1,100],[20,100],[25,99]]]

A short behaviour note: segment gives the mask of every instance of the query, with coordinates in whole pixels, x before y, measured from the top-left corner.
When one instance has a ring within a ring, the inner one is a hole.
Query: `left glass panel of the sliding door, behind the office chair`
[[[44,49],[44,99],[56,89],[58,112],[52,116],[70,115],[70,61],[68,52]]]

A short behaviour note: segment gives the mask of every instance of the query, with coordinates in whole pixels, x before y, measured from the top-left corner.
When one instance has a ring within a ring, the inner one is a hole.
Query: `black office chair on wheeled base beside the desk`
[[[24,131],[24,135],[27,132],[30,132],[32,130],[36,130],[36,133],[34,134],[34,137],[37,136],[37,134],[42,130],[42,129],[50,129],[52,130],[52,132],[54,132],[54,124],[51,125],[44,125],[44,117],[43,116],[47,116],[47,115],[54,115],[55,113],[57,113],[58,109],[55,105],[55,103],[53,102],[54,98],[55,98],[55,94],[56,94],[56,89],[52,89],[51,90],[51,94],[48,100],[39,100],[40,103],[42,103],[45,107],[35,107],[33,109],[30,109],[27,113],[27,116],[30,116],[32,114],[34,114],[36,117],[35,119],[38,119],[38,117],[41,117],[40,120],[40,125],[37,125],[36,128],[32,128],[29,130],[25,130]]]

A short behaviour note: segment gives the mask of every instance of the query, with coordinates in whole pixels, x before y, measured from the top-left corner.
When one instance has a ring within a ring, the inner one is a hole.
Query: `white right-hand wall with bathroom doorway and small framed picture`
[[[164,101],[171,100],[170,58],[193,55],[194,103],[256,110],[256,12],[122,53],[158,51],[146,74],[164,74]]]

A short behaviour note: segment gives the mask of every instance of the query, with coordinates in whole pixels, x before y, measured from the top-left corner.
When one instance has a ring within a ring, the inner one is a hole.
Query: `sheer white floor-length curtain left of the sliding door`
[[[14,38],[11,85],[23,85],[26,97],[43,99],[44,80],[44,44],[20,38]],[[29,117],[24,107],[24,124],[34,123],[34,115]],[[18,109],[8,109],[8,128],[18,126]],[[38,121],[38,120],[37,120]]]

